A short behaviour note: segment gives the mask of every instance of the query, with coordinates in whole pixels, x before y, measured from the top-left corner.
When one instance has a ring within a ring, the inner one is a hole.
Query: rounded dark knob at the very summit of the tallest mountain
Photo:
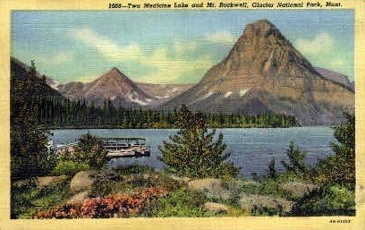
[[[248,24],[243,34],[248,37],[268,37],[269,35],[281,36],[281,33],[276,26],[266,19],[254,21]]]

